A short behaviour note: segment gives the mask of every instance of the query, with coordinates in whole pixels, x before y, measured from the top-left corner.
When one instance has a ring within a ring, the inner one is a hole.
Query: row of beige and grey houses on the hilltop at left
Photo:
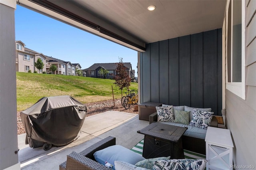
[[[45,71],[46,73],[50,73],[50,66],[54,64],[58,69],[53,74],[76,75],[76,68],[82,68],[79,63],[72,64],[70,61],[63,61],[61,59],[49,57],[42,53],[33,51],[32,49],[26,48],[25,43],[22,41],[18,40],[15,41],[15,43],[16,71],[18,72],[28,72],[31,70],[31,72],[37,71],[38,73],[42,73]],[[40,58],[44,63],[44,68],[40,70],[38,70],[34,65],[38,58]]]

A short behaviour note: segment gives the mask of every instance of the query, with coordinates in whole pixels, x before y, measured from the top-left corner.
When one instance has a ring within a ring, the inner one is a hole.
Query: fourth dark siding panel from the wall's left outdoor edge
[[[179,104],[179,38],[169,40],[169,105]]]

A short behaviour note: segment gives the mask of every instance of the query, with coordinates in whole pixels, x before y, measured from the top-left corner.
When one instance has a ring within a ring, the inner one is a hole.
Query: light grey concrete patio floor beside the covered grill
[[[25,144],[26,134],[18,135],[20,167],[24,170],[58,170],[71,152],[81,152],[85,148],[108,136],[116,137],[116,144],[132,148],[144,135],[137,131],[149,125],[139,120],[138,114],[106,111],[86,117],[80,137],[66,146],[52,147],[45,151],[42,147],[30,148]]]

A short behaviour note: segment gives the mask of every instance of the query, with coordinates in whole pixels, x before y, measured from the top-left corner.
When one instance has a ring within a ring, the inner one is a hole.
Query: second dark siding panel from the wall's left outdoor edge
[[[150,73],[151,102],[159,102],[159,42],[150,46]]]

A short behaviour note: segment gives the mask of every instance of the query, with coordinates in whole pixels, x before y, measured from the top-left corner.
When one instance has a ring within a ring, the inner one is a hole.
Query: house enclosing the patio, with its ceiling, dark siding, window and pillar
[[[255,0],[19,4],[138,51],[140,103],[211,107],[214,115],[224,113],[234,143],[234,164],[256,167]],[[154,11],[147,10],[150,5],[156,6]],[[9,152],[18,150],[13,126],[16,79],[14,68],[4,66],[15,62],[10,51],[14,55],[16,1],[0,1],[0,8],[0,23],[5,23],[0,24],[0,42],[5,42],[0,45],[0,73],[8,73],[0,75],[0,96],[5,99],[0,102],[0,124],[6,127],[0,129],[0,168],[13,169],[19,165],[18,155]]]

